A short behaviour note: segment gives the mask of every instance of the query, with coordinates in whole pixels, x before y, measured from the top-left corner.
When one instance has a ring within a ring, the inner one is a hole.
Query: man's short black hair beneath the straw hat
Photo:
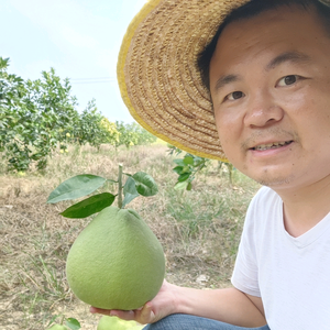
[[[226,18],[222,24],[220,24],[212,41],[199,54],[198,68],[201,74],[202,82],[208,90],[210,90],[210,62],[216,51],[218,38],[223,29],[231,22],[254,18],[264,11],[277,9],[283,6],[298,6],[306,11],[311,11],[315,9],[318,18],[320,19],[320,23],[323,25],[327,34],[330,37],[330,4],[326,6],[320,0],[252,0],[246,4],[234,9]]]

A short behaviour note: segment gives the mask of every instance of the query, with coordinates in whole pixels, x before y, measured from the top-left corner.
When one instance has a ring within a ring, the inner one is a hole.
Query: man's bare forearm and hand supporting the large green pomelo
[[[135,310],[107,310],[91,307],[91,312],[117,316],[139,323],[154,323],[170,314],[187,314],[210,318],[245,328],[266,324],[260,297],[237,288],[195,289],[179,287],[164,280],[157,296]]]

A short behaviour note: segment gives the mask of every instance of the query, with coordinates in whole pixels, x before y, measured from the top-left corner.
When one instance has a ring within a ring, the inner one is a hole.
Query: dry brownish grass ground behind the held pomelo
[[[69,202],[54,206],[46,199],[77,174],[116,179],[119,163],[125,173],[144,170],[158,184],[156,196],[140,197],[130,207],[161,240],[166,278],[199,288],[230,285],[243,216],[256,184],[235,173],[231,187],[213,162],[195,180],[193,191],[177,191],[173,157],[164,145],[118,152],[108,146],[100,152],[72,146],[68,155],[54,155],[43,175],[33,170],[23,177],[0,175],[1,329],[45,329],[59,314],[77,318],[82,329],[96,329],[99,317],[72,295],[64,271],[69,246],[90,219],[65,219],[58,212]],[[116,191],[113,185],[107,189]]]

